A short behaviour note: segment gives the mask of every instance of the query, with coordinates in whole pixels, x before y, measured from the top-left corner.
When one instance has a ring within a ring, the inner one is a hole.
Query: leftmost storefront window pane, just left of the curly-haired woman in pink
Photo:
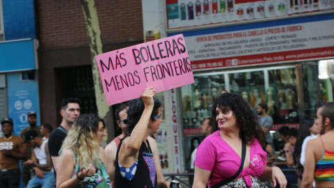
[[[200,125],[204,118],[211,116],[213,100],[226,92],[224,75],[198,75],[194,79],[194,84],[181,88],[184,157],[188,171],[193,170],[191,154],[204,139]]]

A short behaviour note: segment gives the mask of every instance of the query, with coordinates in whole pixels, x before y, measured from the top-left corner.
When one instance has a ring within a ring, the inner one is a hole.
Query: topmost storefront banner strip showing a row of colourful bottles
[[[267,19],[331,10],[333,1],[166,0],[168,29]]]

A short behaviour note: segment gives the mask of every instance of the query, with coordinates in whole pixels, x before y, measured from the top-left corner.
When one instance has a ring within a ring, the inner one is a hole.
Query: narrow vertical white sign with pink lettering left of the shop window
[[[172,123],[172,139],[173,139],[173,162],[174,162],[174,173],[180,173],[183,171],[181,168],[181,146],[180,146],[180,127],[181,124],[178,117],[177,111],[177,91],[175,89],[170,90],[170,109],[171,109],[171,123]]]

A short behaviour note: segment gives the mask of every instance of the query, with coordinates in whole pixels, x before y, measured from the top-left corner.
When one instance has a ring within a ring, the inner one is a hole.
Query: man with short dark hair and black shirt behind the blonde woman
[[[61,150],[67,132],[70,131],[73,123],[80,116],[80,100],[77,98],[63,99],[61,101],[60,112],[61,116],[63,116],[61,125],[59,125],[49,136],[49,153],[55,176],[57,173],[59,150]]]

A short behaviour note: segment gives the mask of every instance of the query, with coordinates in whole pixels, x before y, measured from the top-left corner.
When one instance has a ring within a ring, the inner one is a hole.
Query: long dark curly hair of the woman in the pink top
[[[212,120],[214,126],[218,126],[216,121],[216,107],[219,109],[231,109],[237,119],[237,127],[239,127],[239,136],[250,146],[254,143],[254,138],[264,146],[264,136],[259,125],[259,120],[255,113],[250,109],[247,102],[241,95],[236,93],[223,93],[214,100],[212,105]]]

